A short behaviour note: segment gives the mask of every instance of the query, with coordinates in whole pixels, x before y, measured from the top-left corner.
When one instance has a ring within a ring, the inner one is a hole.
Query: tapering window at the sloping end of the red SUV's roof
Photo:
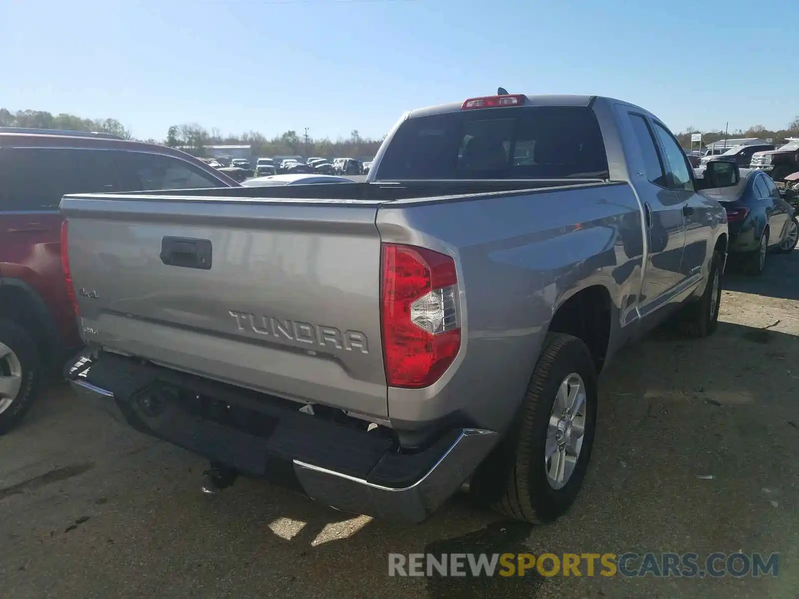
[[[196,166],[162,154],[117,152],[117,168],[126,192],[225,187]]]

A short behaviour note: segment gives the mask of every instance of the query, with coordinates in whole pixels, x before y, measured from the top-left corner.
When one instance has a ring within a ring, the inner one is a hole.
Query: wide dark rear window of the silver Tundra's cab
[[[593,110],[535,106],[464,110],[404,121],[378,180],[608,178]]]

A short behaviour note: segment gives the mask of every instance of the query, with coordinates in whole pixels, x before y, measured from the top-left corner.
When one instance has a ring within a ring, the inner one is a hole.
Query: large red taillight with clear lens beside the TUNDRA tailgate
[[[383,245],[381,311],[390,387],[435,383],[458,355],[458,276],[450,256]]]

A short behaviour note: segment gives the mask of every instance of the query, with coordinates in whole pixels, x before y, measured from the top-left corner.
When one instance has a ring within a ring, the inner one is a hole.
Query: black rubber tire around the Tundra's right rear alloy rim
[[[572,374],[579,375],[585,387],[582,448],[565,485],[555,489],[547,479],[544,458],[547,431],[559,387]],[[596,415],[597,373],[588,347],[571,335],[547,334],[515,426],[475,472],[471,495],[516,520],[555,520],[574,503],[586,476]]]

